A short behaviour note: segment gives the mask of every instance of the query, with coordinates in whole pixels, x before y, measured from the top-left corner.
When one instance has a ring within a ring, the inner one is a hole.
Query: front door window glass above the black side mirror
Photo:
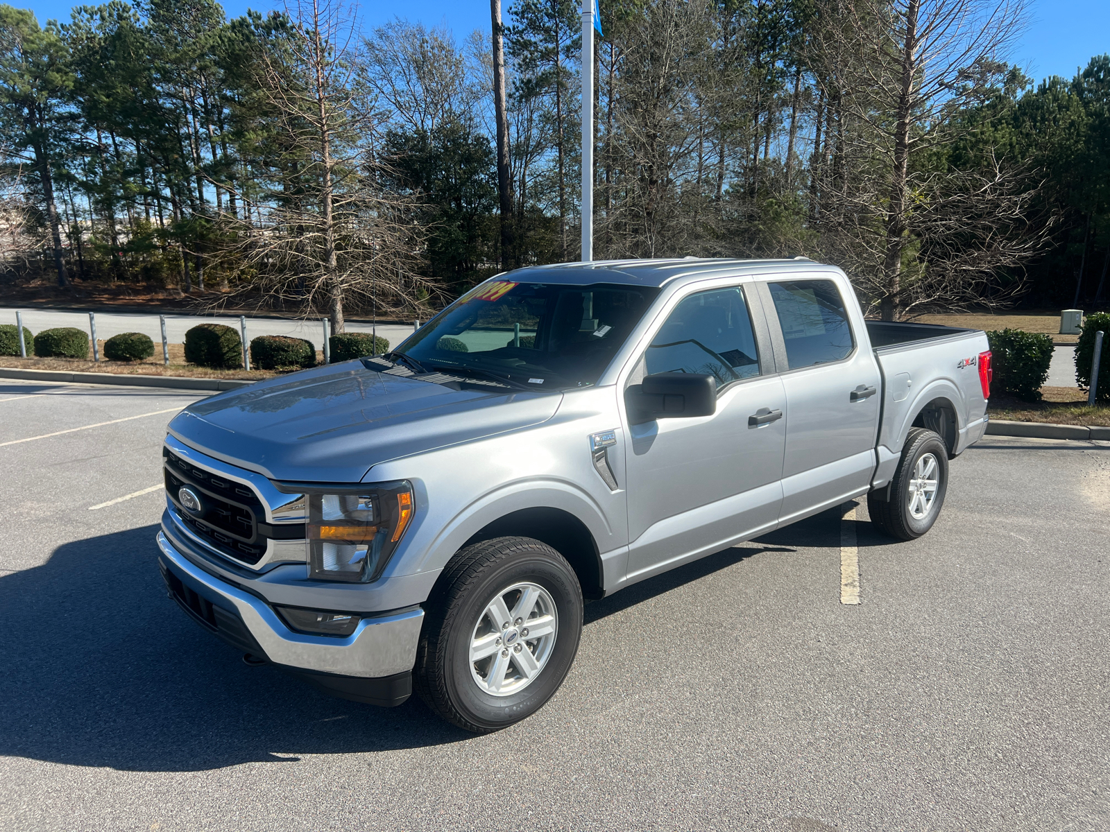
[[[654,373],[708,373],[724,387],[759,375],[759,354],[744,293],[738,288],[698,292],[684,298],[644,355]]]

